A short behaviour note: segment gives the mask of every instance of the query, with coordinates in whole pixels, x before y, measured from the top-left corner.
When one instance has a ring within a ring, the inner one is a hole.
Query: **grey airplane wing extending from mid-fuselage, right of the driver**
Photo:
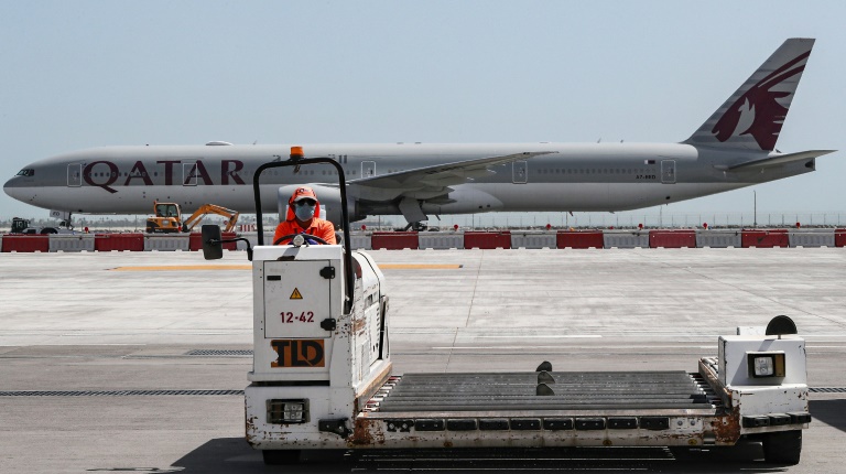
[[[499,157],[456,161],[351,180],[348,182],[348,185],[354,190],[351,193],[365,200],[383,201],[399,196],[426,200],[448,193],[452,191],[448,188],[451,185],[462,184],[467,180],[495,173],[490,166],[528,160],[550,153],[555,153],[555,151],[525,151]]]

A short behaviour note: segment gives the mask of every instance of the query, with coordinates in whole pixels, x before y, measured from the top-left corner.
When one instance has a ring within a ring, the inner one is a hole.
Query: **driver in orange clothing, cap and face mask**
[[[276,233],[273,235],[273,243],[280,237],[292,234],[308,234],[319,237],[326,244],[335,245],[335,226],[330,222],[321,218],[321,203],[314,190],[308,186],[301,186],[294,191],[291,198],[288,200],[288,214],[285,220],[279,223]],[[319,244],[316,240],[307,239],[310,244]],[[279,245],[288,245],[291,239],[284,239]]]

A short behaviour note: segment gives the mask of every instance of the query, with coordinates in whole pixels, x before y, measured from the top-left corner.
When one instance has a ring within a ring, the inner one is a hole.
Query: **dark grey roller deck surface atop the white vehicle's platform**
[[[540,384],[552,394],[538,395]],[[599,410],[713,416],[722,405],[698,374],[685,371],[406,374],[391,377],[366,411],[421,417],[485,417],[494,411],[577,416]]]

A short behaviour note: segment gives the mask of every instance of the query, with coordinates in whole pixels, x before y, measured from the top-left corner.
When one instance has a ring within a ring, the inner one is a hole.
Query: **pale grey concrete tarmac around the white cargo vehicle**
[[[377,250],[395,373],[695,370],[717,336],[792,317],[807,341],[802,461],[760,446],[307,452],[243,441],[245,252],[0,254],[0,472],[840,472],[846,250]],[[33,391],[23,396],[21,391]],[[50,395],[45,392],[52,392]],[[17,395],[9,395],[15,392]]]

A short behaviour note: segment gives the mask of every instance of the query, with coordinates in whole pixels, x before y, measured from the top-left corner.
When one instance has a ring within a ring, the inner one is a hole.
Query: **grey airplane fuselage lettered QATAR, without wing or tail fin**
[[[520,211],[626,211],[674,203],[813,171],[814,160],[766,170],[726,172],[778,153],[682,143],[305,144],[306,158],[330,157],[348,182],[434,164],[520,152],[551,152],[490,166],[451,185],[446,198],[414,196],[427,214]],[[28,166],[4,188],[39,207],[85,214],[144,214],[152,203],[185,209],[214,203],[254,212],[252,176],[267,162],[288,160],[290,146],[104,147]],[[261,179],[263,212],[276,211],[280,186],[336,183],[327,165],[270,170]],[[29,175],[28,175],[29,174]],[[355,187],[352,188],[355,190]],[[406,192],[408,196],[409,193]],[[413,195],[413,193],[412,193]],[[399,214],[390,193],[351,197],[361,214]]]

